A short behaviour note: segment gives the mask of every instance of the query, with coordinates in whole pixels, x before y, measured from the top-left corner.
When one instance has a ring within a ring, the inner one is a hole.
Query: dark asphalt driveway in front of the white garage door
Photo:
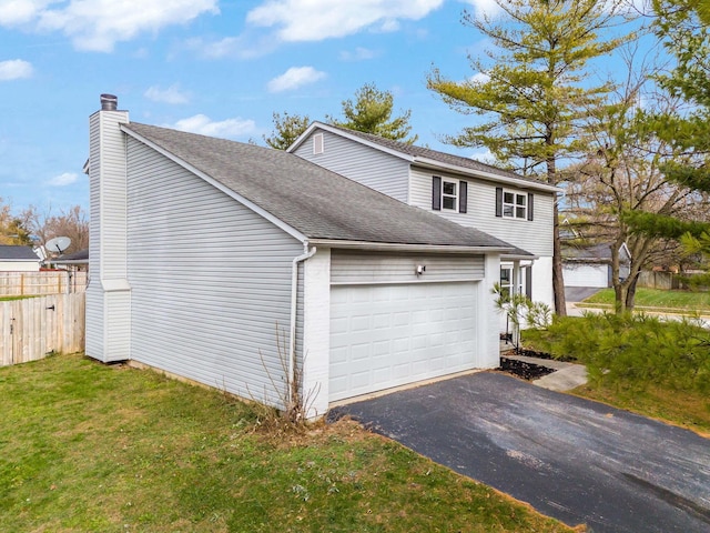
[[[481,372],[336,408],[591,532],[710,531],[710,440]]]

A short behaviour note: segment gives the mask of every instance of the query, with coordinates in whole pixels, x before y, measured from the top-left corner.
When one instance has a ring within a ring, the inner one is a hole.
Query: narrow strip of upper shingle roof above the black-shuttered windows
[[[316,123],[316,127],[318,125],[323,125],[323,124]],[[545,185],[548,184],[545,181],[537,180],[535,178],[528,178],[509,170],[499,169],[498,167],[494,167],[490,164],[481,163],[480,161],[476,161],[475,159],[463,158],[460,155],[454,155],[452,153],[446,153],[446,152],[439,152],[437,150],[417,147],[416,144],[407,144],[406,142],[393,141],[390,139],[373,135],[371,133],[363,133],[362,131],[349,130],[347,128],[342,128],[339,125],[333,125],[333,124],[326,124],[326,125],[327,128],[339,130],[349,135],[357,137],[359,139],[378,144],[388,150],[394,150],[394,151],[404,153],[406,155],[410,155],[413,158],[428,159],[428,160],[448,164],[448,165],[459,167],[463,169],[478,171],[478,172],[486,172],[489,174],[496,174],[505,178],[513,178],[516,180],[523,180],[523,181],[527,181],[536,184],[545,184]]]

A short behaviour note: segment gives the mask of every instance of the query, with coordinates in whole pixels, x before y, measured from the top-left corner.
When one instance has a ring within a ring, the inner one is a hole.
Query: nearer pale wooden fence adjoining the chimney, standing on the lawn
[[[0,365],[84,349],[85,293],[0,302]]]

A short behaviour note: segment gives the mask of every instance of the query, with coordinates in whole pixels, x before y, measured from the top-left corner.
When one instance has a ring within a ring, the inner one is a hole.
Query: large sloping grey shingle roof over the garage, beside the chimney
[[[479,230],[407,205],[282,150],[134,122],[124,128],[308,239],[513,248]]]

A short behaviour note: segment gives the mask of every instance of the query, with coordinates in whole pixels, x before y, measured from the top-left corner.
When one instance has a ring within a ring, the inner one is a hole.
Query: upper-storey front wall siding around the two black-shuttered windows
[[[554,194],[504,185],[506,190],[532,192],[535,194],[535,220],[505,219],[496,217],[496,187],[501,187],[499,183],[413,168],[409,202],[412,205],[428,211],[432,210],[433,175],[440,175],[444,179],[465,179],[468,182],[468,209],[466,213],[454,211],[433,212],[458,224],[477,228],[536,255],[552,255]]]

